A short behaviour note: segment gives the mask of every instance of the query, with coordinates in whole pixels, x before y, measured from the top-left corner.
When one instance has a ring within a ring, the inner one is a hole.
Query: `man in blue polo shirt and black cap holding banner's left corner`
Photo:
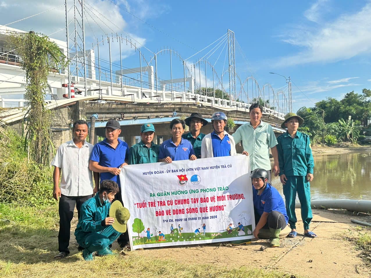
[[[128,144],[118,138],[121,133],[121,127],[118,121],[109,120],[105,127],[106,138],[95,144],[90,161],[89,169],[99,173],[100,180],[113,180],[119,186],[119,192],[114,200],[122,203],[120,177],[121,168],[127,164],[129,156]],[[95,177],[95,176],[94,176]],[[99,186],[99,179],[95,179],[95,186]],[[122,203],[122,205],[124,205]],[[123,233],[117,240],[121,247],[128,247],[128,231]]]

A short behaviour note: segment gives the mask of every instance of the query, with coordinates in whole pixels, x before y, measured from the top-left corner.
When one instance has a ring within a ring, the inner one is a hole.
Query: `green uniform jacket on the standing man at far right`
[[[306,176],[313,174],[314,160],[309,136],[296,132],[294,138],[287,132],[277,138],[279,175]]]

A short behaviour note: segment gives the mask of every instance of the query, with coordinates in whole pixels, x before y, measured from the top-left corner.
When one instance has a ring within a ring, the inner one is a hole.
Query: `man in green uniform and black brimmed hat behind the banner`
[[[191,142],[195,156],[201,158],[201,142],[205,137],[205,134],[201,133],[201,127],[207,125],[207,121],[202,118],[200,113],[192,113],[184,121],[190,127],[190,132],[183,134],[182,138]]]

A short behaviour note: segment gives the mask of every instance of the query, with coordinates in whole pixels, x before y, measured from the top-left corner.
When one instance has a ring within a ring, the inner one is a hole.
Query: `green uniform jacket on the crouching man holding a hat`
[[[83,244],[85,238],[92,232],[98,232],[108,227],[102,226],[102,220],[108,217],[110,207],[111,203],[104,203],[102,205],[99,199],[99,192],[82,204],[79,223],[75,230],[76,241],[80,245]]]

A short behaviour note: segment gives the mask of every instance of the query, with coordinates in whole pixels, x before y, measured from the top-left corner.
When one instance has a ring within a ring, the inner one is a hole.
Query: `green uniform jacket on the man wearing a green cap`
[[[144,164],[158,162],[158,153],[160,147],[152,142],[151,148],[148,148],[142,141],[133,145],[129,150],[128,164]]]

